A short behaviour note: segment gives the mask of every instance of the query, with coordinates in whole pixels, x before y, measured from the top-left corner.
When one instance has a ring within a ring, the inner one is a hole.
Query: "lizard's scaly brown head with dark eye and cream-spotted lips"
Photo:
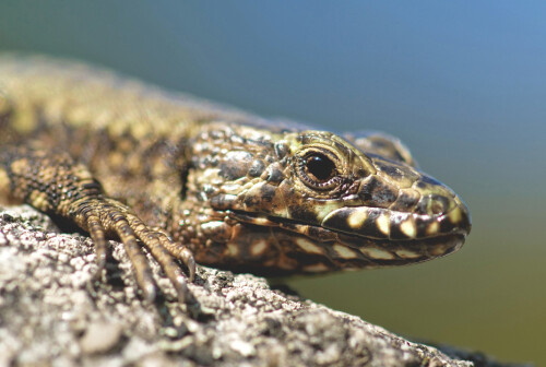
[[[455,251],[470,233],[466,205],[417,169],[395,140],[245,128],[224,133],[230,137],[224,142],[236,135],[240,149],[230,144],[213,166],[197,161],[209,169],[201,185],[206,200],[224,224],[232,223],[226,251],[237,247],[238,259],[260,259],[253,267],[250,254],[242,257],[244,270],[305,273],[420,262]]]

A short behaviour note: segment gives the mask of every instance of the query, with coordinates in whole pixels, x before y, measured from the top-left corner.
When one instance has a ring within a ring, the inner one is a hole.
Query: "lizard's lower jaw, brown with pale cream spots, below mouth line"
[[[356,210],[346,208],[352,209]],[[290,238],[290,248],[282,251],[298,259],[298,269],[285,269],[286,273],[325,273],[423,262],[459,250],[470,230],[453,229],[426,238],[381,239],[259,213],[232,212],[229,216],[242,223],[277,227],[272,232],[277,239]],[[288,263],[284,261],[284,267],[290,268]]]

